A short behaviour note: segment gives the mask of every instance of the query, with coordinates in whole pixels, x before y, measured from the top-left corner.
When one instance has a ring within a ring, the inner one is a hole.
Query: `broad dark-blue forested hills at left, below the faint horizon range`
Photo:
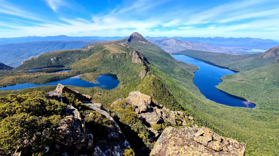
[[[86,44],[105,40],[88,41],[36,41],[25,43],[10,43],[0,45],[0,62],[17,67],[21,62],[31,56],[62,49],[80,49]]]

